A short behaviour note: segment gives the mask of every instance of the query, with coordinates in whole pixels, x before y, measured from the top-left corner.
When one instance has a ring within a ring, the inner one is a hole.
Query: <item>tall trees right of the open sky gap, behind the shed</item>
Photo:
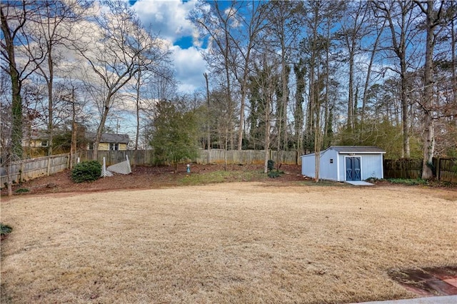
[[[455,1],[201,1],[206,145],[457,155]],[[318,163],[318,161],[316,161]],[[316,168],[316,176],[318,168]]]

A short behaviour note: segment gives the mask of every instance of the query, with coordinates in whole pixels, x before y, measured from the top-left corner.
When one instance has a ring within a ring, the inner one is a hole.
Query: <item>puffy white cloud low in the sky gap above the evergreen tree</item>
[[[196,89],[204,88],[203,74],[206,71],[206,62],[202,58],[199,49],[194,46],[189,49],[172,46],[171,51],[176,70],[176,80],[180,82],[179,91],[190,93]]]

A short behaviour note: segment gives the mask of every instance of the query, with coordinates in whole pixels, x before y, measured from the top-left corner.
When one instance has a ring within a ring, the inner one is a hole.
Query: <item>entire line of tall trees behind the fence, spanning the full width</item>
[[[456,14],[455,1],[198,1],[187,18],[206,87],[184,94],[164,39],[126,1],[2,1],[1,158],[26,157],[36,130],[48,154],[74,152],[84,129],[96,157],[129,113],[133,148],[161,161],[376,145],[423,158],[430,178],[433,156],[457,155]]]

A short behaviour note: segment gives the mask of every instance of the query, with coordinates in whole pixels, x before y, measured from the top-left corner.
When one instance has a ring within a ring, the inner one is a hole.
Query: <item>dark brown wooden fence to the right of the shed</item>
[[[438,181],[457,183],[457,158],[433,158]],[[385,159],[384,178],[421,178],[422,159]]]

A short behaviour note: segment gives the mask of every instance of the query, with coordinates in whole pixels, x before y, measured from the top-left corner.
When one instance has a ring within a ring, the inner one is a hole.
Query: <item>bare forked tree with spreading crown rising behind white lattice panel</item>
[[[98,157],[101,134],[116,93],[141,69],[150,69],[168,56],[158,39],[153,39],[141,26],[134,11],[120,0],[103,1],[108,11],[96,16],[95,41],[85,47],[76,46],[91,70],[104,83],[101,118],[94,142],[94,159]]]

